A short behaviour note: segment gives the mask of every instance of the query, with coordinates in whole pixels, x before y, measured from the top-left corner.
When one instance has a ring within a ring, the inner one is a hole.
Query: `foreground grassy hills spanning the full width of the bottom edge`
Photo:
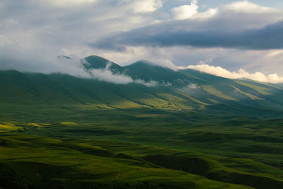
[[[59,140],[11,132],[2,132],[0,139],[0,181],[8,188],[283,186],[282,178],[274,176],[282,171],[246,159],[122,142]],[[250,170],[255,173],[248,173]]]

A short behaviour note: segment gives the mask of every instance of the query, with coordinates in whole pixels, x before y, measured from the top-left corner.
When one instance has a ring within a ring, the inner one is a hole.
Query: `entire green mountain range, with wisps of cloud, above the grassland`
[[[8,70],[0,71],[0,103],[10,107],[16,103],[214,112],[221,105],[221,111],[225,107],[231,114],[245,114],[250,108],[254,111],[266,108],[270,110],[269,115],[278,115],[274,111],[283,110],[283,90],[271,84],[226,79],[192,69],[174,71],[144,61],[121,67],[97,56],[85,60],[82,64],[86,70],[110,69],[112,74],[123,74],[132,77],[133,81],[155,81],[156,86],[146,86],[141,82],[112,84],[68,74]],[[254,111],[248,113],[253,115]]]

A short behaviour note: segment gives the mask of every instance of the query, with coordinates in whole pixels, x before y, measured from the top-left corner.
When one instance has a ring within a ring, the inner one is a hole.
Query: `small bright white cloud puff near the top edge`
[[[172,8],[173,16],[176,20],[183,20],[191,18],[197,14],[197,0],[192,0],[190,5],[183,5],[179,7]]]

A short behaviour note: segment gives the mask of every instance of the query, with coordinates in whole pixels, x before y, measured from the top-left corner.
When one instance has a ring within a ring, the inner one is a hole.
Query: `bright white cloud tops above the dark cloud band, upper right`
[[[282,10],[249,1],[235,1],[199,11],[197,0],[194,0],[189,5],[172,8],[171,11],[175,20],[185,20],[182,26],[178,25],[175,28],[182,27],[185,30],[235,31],[244,28],[261,28],[283,19]]]

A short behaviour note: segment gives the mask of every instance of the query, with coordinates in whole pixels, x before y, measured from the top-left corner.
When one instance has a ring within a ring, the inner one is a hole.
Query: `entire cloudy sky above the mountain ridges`
[[[283,1],[0,1],[0,69],[82,76],[89,55],[283,82]]]

